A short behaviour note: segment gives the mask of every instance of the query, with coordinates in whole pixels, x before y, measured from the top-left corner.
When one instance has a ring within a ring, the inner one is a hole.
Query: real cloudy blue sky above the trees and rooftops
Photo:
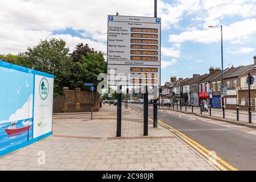
[[[72,51],[78,43],[107,52],[107,15],[153,16],[153,0],[1,0],[0,54],[26,51],[57,38]],[[221,67],[253,64],[256,0],[159,0],[161,82]]]

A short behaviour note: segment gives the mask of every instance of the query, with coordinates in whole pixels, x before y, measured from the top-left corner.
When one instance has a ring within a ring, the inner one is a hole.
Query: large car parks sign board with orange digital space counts
[[[108,85],[160,86],[161,19],[108,15]]]

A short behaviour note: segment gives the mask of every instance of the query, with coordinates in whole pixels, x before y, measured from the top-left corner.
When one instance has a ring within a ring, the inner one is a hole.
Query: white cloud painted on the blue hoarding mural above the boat
[[[22,108],[18,109],[14,114],[10,115],[9,122],[32,118],[32,103],[33,96],[31,94],[27,98],[27,102],[25,102]]]

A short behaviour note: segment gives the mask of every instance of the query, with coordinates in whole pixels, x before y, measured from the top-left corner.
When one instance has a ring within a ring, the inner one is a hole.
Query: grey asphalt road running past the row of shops
[[[143,105],[128,106],[143,114]],[[148,113],[153,116],[152,109]],[[169,110],[159,110],[158,119],[216,152],[238,170],[256,170],[256,129]]]

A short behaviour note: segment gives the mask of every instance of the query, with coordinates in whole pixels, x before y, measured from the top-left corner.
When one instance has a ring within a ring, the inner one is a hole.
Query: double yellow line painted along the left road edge
[[[176,135],[180,135],[181,139],[183,139],[186,143],[188,143],[190,146],[192,146],[195,150],[200,152],[201,155],[205,156],[206,159],[208,159],[210,162],[215,164],[222,171],[229,171],[229,170],[231,170],[231,171],[238,171],[237,168],[234,168],[233,166],[231,166],[230,164],[228,164],[227,162],[222,160],[217,155],[214,155],[213,152],[207,150],[205,147],[201,146],[196,141],[190,139],[189,137],[187,137],[186,135],[184,135],[180,131],[174,129],[173,127],[171,127],[169,125],[166,125],[164,122],[162,122],[160,120],[159,120],[159,123],[162,126],[165,126],[165,127],[169,128],[169,129],[173,130],[174,133],[176,133]]]

